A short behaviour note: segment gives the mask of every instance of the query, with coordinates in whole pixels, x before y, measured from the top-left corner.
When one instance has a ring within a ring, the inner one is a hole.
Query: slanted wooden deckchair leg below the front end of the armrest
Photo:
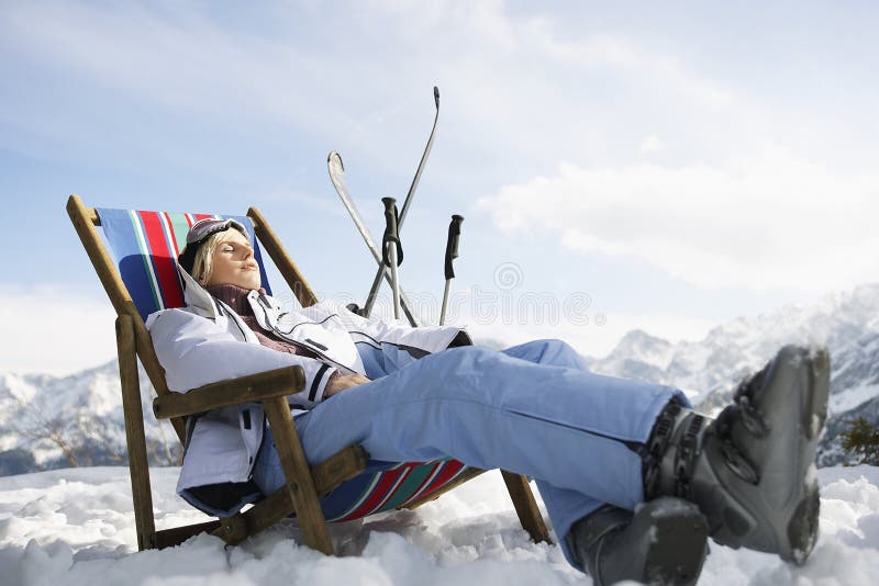
[[[296,506],[296,517],[302,529],[305,545],[333,555],[335,552],[326,530],[326,519],[321,510],[314,480],[311,476],[302,443],[299,441],[299,433],[293,425],[287,399],[276,397],[265,401],[263,404],[266,406],[266,416],[271,426],[275,447],[278,450],[283,475],[287,477],[287,487]]]

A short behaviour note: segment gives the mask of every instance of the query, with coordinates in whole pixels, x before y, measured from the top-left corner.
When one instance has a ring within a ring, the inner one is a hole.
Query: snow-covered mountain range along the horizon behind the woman
[[[824,345],[831,352],[830,417],[819,464],[841,463],[846,421],[863,416],[879,424],[879,283],[739,317],[699,341],[671,342],[632,330],[607,357],[585,359],[596,372],[677,386],[700,410],[716,413],[736,384],[786,343]],[[153,419],[152,386],[143,372],[141,386],[151,462],[174,464],[179,443],[167,421]],[[115,361],[69,376],[0,373],[0,475],[123,462]]]

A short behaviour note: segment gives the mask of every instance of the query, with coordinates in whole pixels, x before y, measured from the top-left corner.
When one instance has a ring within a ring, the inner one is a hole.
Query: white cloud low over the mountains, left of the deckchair
[[[0,283],[0,371],[70,374],[115,356],[115,313],[107,298],[69,286]]]

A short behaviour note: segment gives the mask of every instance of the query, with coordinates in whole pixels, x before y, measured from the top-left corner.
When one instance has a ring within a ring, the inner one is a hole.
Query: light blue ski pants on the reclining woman
[[[296,418],[309,462],[361,444],[372,460],[445,457],[533,477],[568,561],[565,536],[609,503],[644,499],[642,459],[657,416],[680,391],[588,371],[559,340],[497,351],[452,348],[415,360],[392,345],[360,348],[371,382]],[[270,446],[270,442],[267,442]],[[254,480],[265,494],[285,482],[274,446]]]

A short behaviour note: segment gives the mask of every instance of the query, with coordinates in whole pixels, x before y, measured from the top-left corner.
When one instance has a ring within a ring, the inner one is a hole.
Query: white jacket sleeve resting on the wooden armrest
[[[282,367],[302,367],[305,387],[288,397],[291,404],[313,407],[323,398],[335,368],[311,358],[278,352],[236,340],[210,319],[181,309],[153,314],[147,328],[168,388],[186,393],[199,386]]]

